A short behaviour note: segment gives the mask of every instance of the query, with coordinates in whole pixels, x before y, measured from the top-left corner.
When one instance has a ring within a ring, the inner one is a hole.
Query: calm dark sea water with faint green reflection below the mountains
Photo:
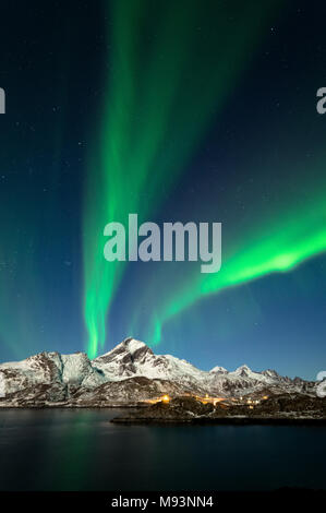
[[[0,410],[0,489],[326,489],[325,428],[110,423],[119,413]]]

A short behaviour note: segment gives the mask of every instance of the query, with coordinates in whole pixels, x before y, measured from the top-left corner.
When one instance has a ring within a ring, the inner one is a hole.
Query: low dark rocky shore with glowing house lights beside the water
[[[158,402],[111,420],[117,423],[324,423],[326,398],[305,395],[279,395],[252,406],[232,401],[216,405],[194,397]]]

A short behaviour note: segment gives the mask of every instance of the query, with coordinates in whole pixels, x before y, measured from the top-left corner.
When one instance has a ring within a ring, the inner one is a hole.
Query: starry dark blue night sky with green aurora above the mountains
[[[131,335],[206,370],[326,368],[325,11],[1,5],[1,361]],[[221,222],[221,271],[107,262],[129,213]]]

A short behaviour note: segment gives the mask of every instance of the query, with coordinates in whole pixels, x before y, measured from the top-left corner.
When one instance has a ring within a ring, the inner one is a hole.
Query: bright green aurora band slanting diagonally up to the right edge
[[[321,191],[325,186],[321,183]],[[321,192],[319,196],[314,193],[300,212],[298,215],[298,205],[293,205],[283,216],[278,213],[278,223],[276,219],[263,223],[255,236],[250,234],[244,238],[242,234],[242,244],[224,258],[218,273],[198,274],[196,270],[184,287],[157,305],[147,335],[150,343],[158,344],[164,324],[202,298],[271,273],[292,271],[326,251],[325,193]]]

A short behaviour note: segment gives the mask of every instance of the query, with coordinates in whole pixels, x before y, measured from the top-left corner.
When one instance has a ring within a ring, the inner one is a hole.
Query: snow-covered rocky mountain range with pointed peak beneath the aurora
[[[0,407],[128,406],[184,394],[230,397],[281,393],[315,395],[315,382],[247,366],[209,372],[171,355],[155,355],[143,342],[126,338],[89,360],[84,353],[40,353],[0,365]]]

